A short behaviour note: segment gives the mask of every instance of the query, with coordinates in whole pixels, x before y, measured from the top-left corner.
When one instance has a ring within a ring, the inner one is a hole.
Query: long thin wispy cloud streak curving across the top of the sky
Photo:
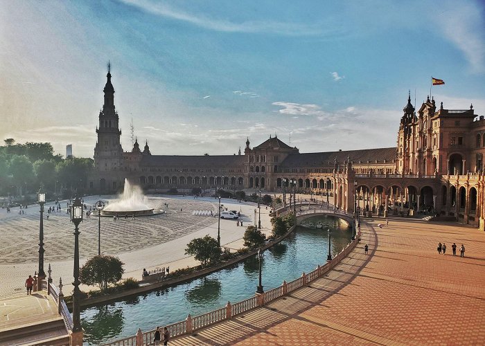
[[[194,26],[226,33],[265,33],[285,36],[327,35],[328,37],[339,33],[336,25],[329,25],[328,23],[326,26],[322,24],[309,25],[277,21],[243,21],[234,23],[232,21],[209,18],[204,15],[192,15],[182,10],[170,8],[166,3],[154,3],[147,0],[122,1],[127,5],[134,6],[153,15],[185,21]]]

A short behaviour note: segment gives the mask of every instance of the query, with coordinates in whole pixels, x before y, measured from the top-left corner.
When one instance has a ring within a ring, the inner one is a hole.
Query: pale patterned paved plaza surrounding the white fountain
[[[113,196],[85,197],[88,206],[98,199],[112,200]],[[73,224],[66,213],[67,201],[61,201],[61,212],[51,213],[47,219],[44,212],[44,270],[47,274],[51,264],[56,284],[62,277],[64,293],[70,294],[73,280]],[[217,212],[218,199],[193,197],[150,197],[150,207],[165,210],[164,214],[136,219],[120,218],[114,221],[101,218],[101,253],[117,255],[125,262],[123,277],[141,278],[143,268],[148,270],[170,266],[170,271],[198,263],[193,257],[184,255],[186,244],[195,237],[211,235],[217,237],[217,217],[192,215],[194,210]],[[165,206],[168,203],[168,208]],[[238,203],[222,199],[224,208],[237,210],[245,226],[254,224],[254,203]],[[54,203],[46,203],[48,210]],[[0,210],[0,298],[23,292],[28,275],[37,270],[39,251],[39,206],[29,206],[26,214],[19,215],[19,208],[10,213]],[[270,233],[269,210],[261,208],[261,221],[265,233]],[[98,217],[84,219],[80,228],[80,264],[98,253]],[[236,221],[221,220],[222,246],[242,247],[245,227],[236,226]],[[93,286],[81,286],[83,291]]]

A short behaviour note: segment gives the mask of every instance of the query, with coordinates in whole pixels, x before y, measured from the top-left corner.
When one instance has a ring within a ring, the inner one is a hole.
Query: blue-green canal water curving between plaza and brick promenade
[[[332,253],[342,251],[351,241],[352,229],[335,217],[312,217],[313,224],[323,228],[297,229],[283,242],[263,253],[262,273],[265,291],[290,282],[301,273],[325,264],[328,255],[330,228]],[[149,331],[155,327],[184,320],[187,313],[197,316],[252,297],[258,285],[256,255],[191,282],[159,289],[118,302],[100,304],[81,311],[85,344],[99,345],[111,340],[134,336],[136,330]]]

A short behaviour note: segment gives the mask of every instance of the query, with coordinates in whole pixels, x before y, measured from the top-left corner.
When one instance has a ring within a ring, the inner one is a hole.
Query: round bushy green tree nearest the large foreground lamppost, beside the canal
[[[101,291],[108,288],[108,284],[114,284],[121,280],[125,273],[124,263],[118,257],[94,256],[80,269],[79,280],[83,284],[98,284]]]

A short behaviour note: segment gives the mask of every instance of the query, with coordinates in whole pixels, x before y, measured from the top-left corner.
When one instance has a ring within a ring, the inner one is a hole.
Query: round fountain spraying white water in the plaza
[[[150,208],[147,204],[148,201],[141,193],[141,189],[138,186],[131,185],[130,182],[125,179],[123,194],[101,210],[101,216],[112,217],[116,215],[118,217],[138,217],[156,215],[161,212],[161,210]]]

